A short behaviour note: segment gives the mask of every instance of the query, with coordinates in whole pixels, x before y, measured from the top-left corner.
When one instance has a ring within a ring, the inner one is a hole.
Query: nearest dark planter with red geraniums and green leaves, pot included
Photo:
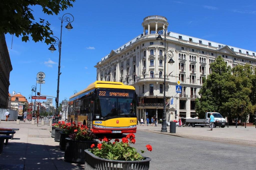
[[[151,159],[142,156],[131,144],[135,144],[135,135],[130,133],[126,137],[115,139],[111,143],[111,138],[99,139],[101,143],[91,145],[92,149],[85,150],[84,169],[138,169],[147,170]],[[147,150],[152,151],[151,145],[146,145]],[[141,153],[144,153],[141,150]]]

